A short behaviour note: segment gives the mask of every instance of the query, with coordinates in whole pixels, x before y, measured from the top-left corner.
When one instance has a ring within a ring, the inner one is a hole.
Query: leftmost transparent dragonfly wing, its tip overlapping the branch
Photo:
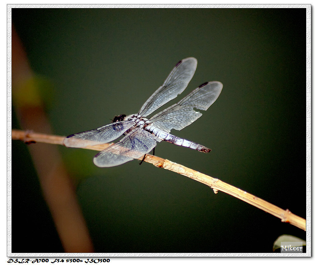
[[[118,138],[134,125],[136,125],[136,122],[133,120],[117,121],[95,130],[69,135],[64,139],[63,143],[68,147],[105,144]]]

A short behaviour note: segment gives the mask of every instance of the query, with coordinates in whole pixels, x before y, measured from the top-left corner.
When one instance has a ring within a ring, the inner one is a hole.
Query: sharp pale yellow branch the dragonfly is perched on
[[[34,141],[34,142],[64,145],[63,144],[64,138],[65,138],[64,136],[58,136],[58,135],[47,135],[47,134],[41,134],[41,133],[25,132],[20,130],[12,130],[13,140],[22,140],[25,142]],[[110,144],[94,145],[94,146],[88,146],[85,148],[101,151],[101,150],[104,150],[109,145]],[[138,158],[138,159],[142,160],[142,158]],[[268,203],[262,200],[261,198],[258,198],[250,193],[247,193],[246,191],[242,191],[236,187],[233,187],[232,185],[229,185],[217,178],[212,178],[203,173],[187,168],[183,165],[179,165],[167,159],[152,156],[149,154],[146,155],[144,161],[151,163],[155,165],[156,167],[161,167],[161,168],[176,172],[188,178],[192,178],[196,181],[199,181],[205,185],[208,185],[209,187],[213,189],[214,193],[218,193],[218,191],[223,191],[227,194],[237,197],[240,200],[243,200],[249,204],[252,204],[253,206],[257,208],[264,210],[272,214],[273,216],[280,218],[282,222],[291,223],[294,226],[306,231],[306,220],[304,218],[301,218],[291,213],[288,209],[283,210],[271,203]]]

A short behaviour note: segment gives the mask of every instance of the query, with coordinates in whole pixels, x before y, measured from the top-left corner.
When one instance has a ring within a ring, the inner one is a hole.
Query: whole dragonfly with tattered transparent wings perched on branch
[[[87,147],[109,143],[122,135],[117,143],[98,153],[93,162],[98,167],[112,167],[141,158],[156,144],[165,141],[208,153],[211,149],[170,134],[171,129],[182,130],[202,116],[198,110],[207,110],[220,95],[223,84],[205,82],[182,100],[147,118],[157,109],[181,94],[188,86],[197,68],[197,59],[188,57],[179,61],[166,80],[133,115],[116,116],[112,123],[97,129],[67,136],[67,147]],[[145,158],[145,157],[144,157]]]

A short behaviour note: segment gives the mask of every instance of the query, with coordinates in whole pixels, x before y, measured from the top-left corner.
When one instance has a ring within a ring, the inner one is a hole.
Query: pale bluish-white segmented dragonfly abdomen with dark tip
[[[191,148],[191,149],[197,150],[199,152],[204,152],[204,153],[208,153],[211,151],[211,149],[209,149],[203,145],[199,145],[195,142],[174,136],[174,135],[167,133],[167,132],[162,132],[161,130],[159,130],[155,126],[146,126],[145,130],[154,134],[160,140],[168,142],[170,144],[180,145],[180,146]]]

